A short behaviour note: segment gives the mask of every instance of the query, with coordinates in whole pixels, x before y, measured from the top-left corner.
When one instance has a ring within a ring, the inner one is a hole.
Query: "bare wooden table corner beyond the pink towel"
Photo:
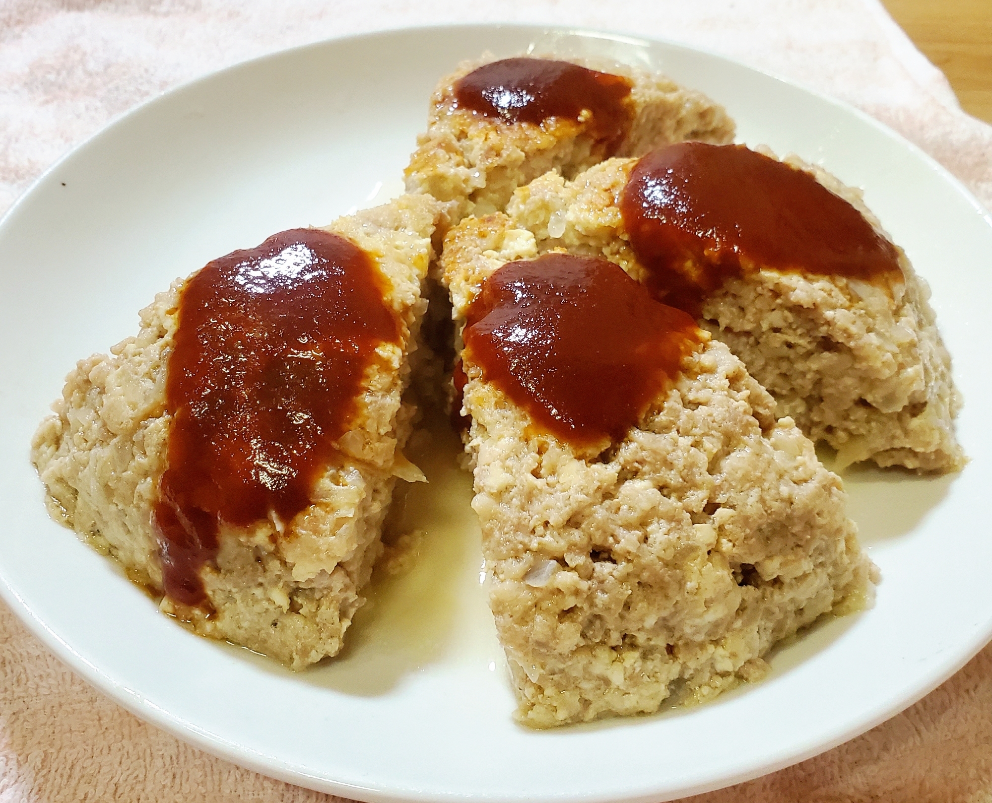
[[[969,114],[992,122],[992,0],[882,0]]]

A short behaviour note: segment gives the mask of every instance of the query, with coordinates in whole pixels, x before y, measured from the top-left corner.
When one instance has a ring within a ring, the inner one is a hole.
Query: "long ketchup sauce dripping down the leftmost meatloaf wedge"
[[[278,528],[310,504],[375,348],[400,338],[388,288],[365,251],[320,229],[283,231],[186,282],[154,513],[168,597],[206,602],[199,572],[222,524]]]

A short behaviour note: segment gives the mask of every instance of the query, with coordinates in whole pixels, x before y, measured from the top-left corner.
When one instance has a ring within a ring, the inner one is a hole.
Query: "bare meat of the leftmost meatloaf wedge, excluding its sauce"
[[[422,477],[402,454],[414,414],[402,397],[427,304],[421,290],[437,211],[430,199],[404,196],[327,227],[376,259],[392,285],[387,301],[402,321],[402,341],[377,349],[357,423],[338,444],[341,463],[317,481],[310,506],[280,529],[271,521],[222,526],[216,565],[201,574],[215,612],[162,602],[197,633],[295,669],[341,648],[382,549],[395,478]],[[183,285],[142,310],[136,337],[76,365],[32,444],[53,512],[152,590],[162,588],[152,510],[166,468],[166,367]]]

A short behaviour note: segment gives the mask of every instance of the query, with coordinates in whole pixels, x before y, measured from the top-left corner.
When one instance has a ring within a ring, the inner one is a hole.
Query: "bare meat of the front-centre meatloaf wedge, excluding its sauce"
[[[537,254],[503,214],[448,232],[457,323],[487,276]],[[680,686],[708,699],[760,677],[776,641],[863,601],[871,564],[840,480],[723,343],[686,357],[598,456],[536,431],[464,369],[472,506],[525,724],[653,712]]]

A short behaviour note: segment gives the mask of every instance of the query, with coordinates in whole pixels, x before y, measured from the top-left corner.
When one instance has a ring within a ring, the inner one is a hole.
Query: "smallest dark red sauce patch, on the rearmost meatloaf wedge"
[[[568,62],[504,59],[455,81],[454,104],[508,123],[581,122],[612,155],[630,127],[631,86],[622,75]]]

